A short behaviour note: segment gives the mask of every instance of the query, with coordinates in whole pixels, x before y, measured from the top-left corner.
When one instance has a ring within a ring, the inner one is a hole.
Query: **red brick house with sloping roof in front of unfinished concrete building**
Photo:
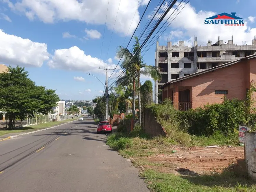
[[[244,99],[253,82],[256,83],[256,54],[175,79],[159,89],[163,100],[170,98],[174,108],[186,111],[207,103],[222,103],[224,95],[228,99]]]

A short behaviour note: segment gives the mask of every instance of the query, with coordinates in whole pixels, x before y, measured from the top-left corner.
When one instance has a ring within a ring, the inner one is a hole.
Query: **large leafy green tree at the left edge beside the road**
[[[36,86],[24,68],[8,67],[8,70],[0,74],[0,108],[9,118],[8,129],[13,129],[16,118],[22,121],[36,113],[47,114],[56,106],[59,96],[55,90]]]

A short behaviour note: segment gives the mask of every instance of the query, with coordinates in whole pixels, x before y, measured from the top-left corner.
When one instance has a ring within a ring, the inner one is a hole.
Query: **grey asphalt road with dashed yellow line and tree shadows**
[[[96,134],[92,119],[0,142],[1,192],[144,192],[137,168]]]

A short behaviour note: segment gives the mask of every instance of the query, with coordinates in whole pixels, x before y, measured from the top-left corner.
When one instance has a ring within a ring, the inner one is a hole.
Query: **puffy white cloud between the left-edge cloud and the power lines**
[[[114,68],[114,64],[107,64],[102,59],[84,54],[77,46],[69,49],[57,49],[48,62],[50,68],[66,69],[70,71],[101,72],[99,67]]]

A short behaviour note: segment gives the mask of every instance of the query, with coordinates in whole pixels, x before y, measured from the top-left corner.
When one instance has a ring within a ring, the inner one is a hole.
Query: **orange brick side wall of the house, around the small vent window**
[[[256,59],[250,61],[250,80],[256,80]],[[174,83],[174,86],[192,86],[192,108],[203,104],[222,103],[223,94],[215,94],[215,90],[228,90],[226,97],[232,99],[244,99],[248,85],[249,62],[241,61],[232,66],[227,66],[216,71],[210,71],[200,76],[184,79],[182,82]]]

